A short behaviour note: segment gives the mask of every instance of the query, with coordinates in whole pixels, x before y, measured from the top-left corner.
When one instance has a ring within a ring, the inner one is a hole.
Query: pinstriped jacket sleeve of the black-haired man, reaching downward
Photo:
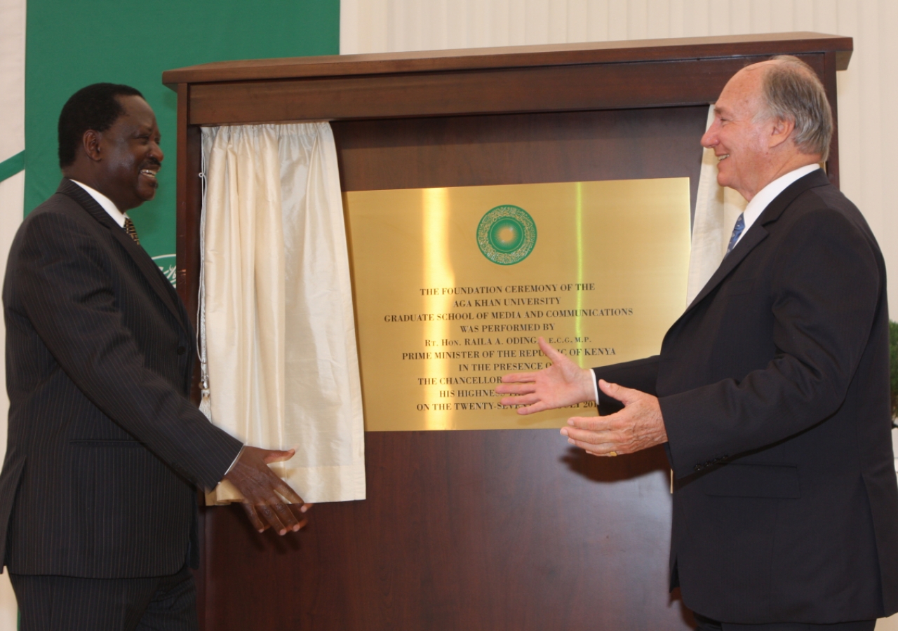
[[[35,216],[23,229],[14,268],[21,302],[57,364],[172,469],[198,486],[215,486],[242,443],[145,367],[116,304],[110,264],[93,237],[57,214]]]

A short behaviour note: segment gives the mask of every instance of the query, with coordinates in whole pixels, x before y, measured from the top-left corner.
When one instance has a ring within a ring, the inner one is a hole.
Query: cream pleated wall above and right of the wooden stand
[[[341,0],[340,4],[344,55],[783,31],[854,38],[849,69],[838,74],[841,189],[876,233],[895,302],[898,213],[890,188],[898,173],[898,0]],[[898,631],[898,615],[880,620],[876,629]]]

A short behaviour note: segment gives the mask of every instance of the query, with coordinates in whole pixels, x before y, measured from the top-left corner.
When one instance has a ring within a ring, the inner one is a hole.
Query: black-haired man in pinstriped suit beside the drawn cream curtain
[[[188,314],[125,215],[154,197],[159,142],[140,92],[76,92],[65,178],[10,251],[0,565],[25,630],[197,628],[198,487],[230,480],[257,530],[304,524],[267,465],[292,452],[244,446],[188,400]]]

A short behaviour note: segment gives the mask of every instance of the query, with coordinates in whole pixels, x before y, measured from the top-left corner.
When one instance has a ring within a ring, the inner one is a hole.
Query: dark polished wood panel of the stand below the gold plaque
[[[206,629],[690,629],[669,469],[556,430],[368,433],[367,499],[285,538],[207,509]]]

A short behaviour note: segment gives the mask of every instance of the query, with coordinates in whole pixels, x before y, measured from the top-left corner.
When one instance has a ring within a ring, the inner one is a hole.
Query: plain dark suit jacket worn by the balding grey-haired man
[[[898,609],[885,264],[823,171],[770,203],[660,355],[595,372],[659,398],[672,586],[691,609],[755,624]]]

